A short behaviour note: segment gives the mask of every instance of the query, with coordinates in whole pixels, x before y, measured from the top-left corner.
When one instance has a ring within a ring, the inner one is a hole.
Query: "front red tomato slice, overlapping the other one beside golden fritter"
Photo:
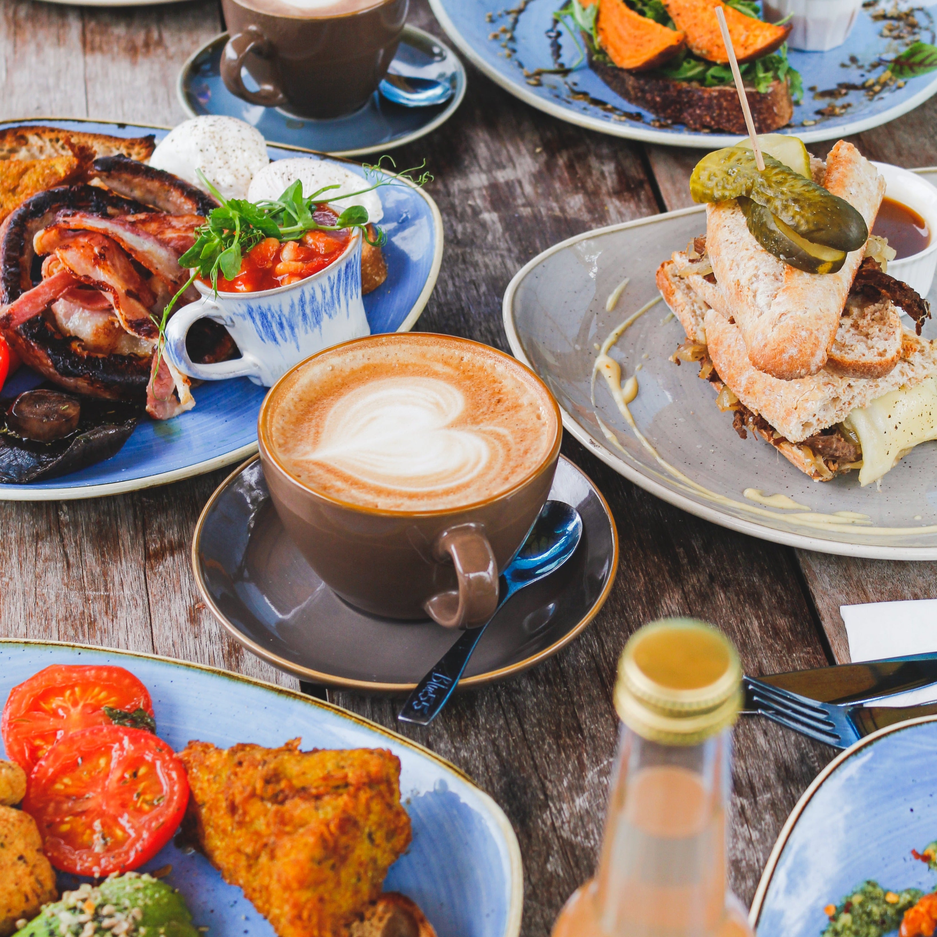
[[[22,809],[56,869],[103,878],[152,859],[187,803],[186,768],[162,739],[96,725],[63,738],[39,761]]]

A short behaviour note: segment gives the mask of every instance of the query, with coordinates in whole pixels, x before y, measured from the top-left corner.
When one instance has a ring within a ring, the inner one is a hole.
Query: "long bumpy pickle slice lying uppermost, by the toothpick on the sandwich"
[[[770,154],[759,172],[755,155],[741,146],[707,153],[692,171],[693,201],[748,197],[764,205],[811,244],[858,250],[869,239],[865,219],[839,196],[785,166]]]

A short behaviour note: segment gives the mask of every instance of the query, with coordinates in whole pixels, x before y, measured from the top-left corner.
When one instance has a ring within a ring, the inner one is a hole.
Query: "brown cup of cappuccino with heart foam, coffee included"
[[[559,408],[524,364],[453,335],[321,351],[260,408],[276,513],[312,569],[372,615],[482,624],[550,492]]]

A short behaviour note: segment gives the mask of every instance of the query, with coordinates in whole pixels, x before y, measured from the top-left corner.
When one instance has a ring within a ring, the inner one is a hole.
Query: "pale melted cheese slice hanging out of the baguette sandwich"
[[[916,445],[937,439],[937,380],[885,394],[854,409],[844,423],[862,445],[859,483],[876,482]]]

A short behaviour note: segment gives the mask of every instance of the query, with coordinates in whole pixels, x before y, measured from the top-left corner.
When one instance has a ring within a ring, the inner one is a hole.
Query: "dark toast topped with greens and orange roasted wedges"
[[[787,60],[790,24],[752,0],[570,0],[558,18],[579,32],[591,69],[625,100],[691,130],[745,133],[716,7],[725,15],[759,133],[786,125],[802,94]]]

